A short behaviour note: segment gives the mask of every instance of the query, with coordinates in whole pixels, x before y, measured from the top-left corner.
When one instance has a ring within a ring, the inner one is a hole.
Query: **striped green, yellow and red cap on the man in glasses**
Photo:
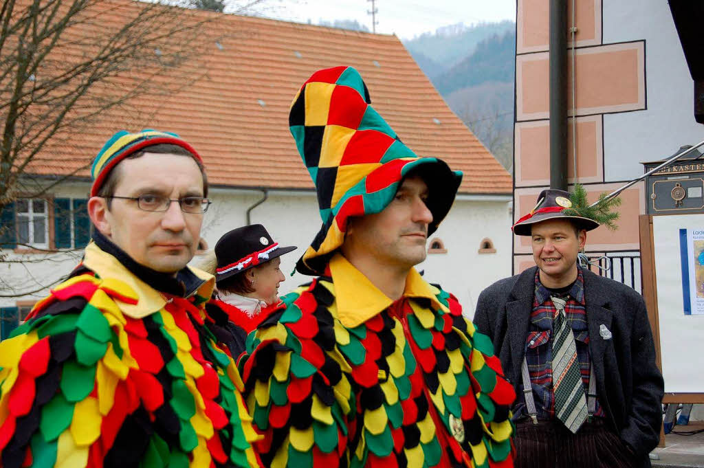
[[[90,189],[90,196],[96,196],[100,191],[100,187],[105,182],[108,173],[120,163],[121,160],[127,158],[131,154],[157,144],[173,144],[181,146],[186,151],[194,156],[199,165],[203,165],[203,159],[194,150],[193,146],[182,140],[177,134],[171,132],[159,132],[158,130],[144,129],[142,132],[130,133],[126,130],[120,130],[106,141],[103,148],[98,153],[93,161],[90,174],[93,179],[93,184]]]

